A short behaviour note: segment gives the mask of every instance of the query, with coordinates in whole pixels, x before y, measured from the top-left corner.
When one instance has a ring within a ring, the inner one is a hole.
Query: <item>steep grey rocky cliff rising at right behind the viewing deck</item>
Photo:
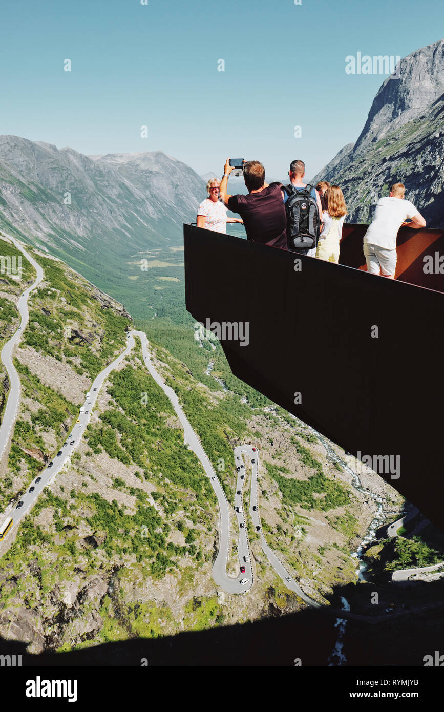
[[[313,182],[342,187],[349,222],[371,221],[379,197],[406,185],[430,227],[444,224],[444,40],[401,60],[401,78],[386,79],[356,144],[345,146]]]

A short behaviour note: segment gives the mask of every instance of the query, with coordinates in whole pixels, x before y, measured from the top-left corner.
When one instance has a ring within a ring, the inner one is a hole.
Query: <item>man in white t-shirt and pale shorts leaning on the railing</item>
[[[394,279],[396,271],[396,235],[400,227],[425,227],[425,220],[409,200],[404,199],[403,183],[395,183],[390,197],[380,198],[374,219],[364,235],[367,272]],[[410,219],[411,222],[405,222]]]

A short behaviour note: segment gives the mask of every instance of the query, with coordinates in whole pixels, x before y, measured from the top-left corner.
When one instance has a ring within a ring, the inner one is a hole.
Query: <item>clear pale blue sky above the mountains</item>
[[[440,39],[438,14],[435,0],[1,0],[0,133],[162,150],[199,173],[231,155],[281,178],[302,158],[310,177],[356,140],[385,78],[347,75],[345,57],[406,56]]]

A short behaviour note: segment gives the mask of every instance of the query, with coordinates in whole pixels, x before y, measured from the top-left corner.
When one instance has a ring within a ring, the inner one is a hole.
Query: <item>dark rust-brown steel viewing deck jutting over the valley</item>
[[[186,308],[204,324],[248,323],[248,345],[221,340],[233,373],[379,458],[381,477],[444,529],[444,230],[399,231],[395,281],[366,273],[365,230],[344,226],[336,265],[185,225]]]

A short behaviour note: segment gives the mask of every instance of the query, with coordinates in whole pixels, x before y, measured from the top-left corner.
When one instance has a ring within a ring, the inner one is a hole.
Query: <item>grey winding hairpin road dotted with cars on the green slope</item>
[[[23,330],[23,328],[26,326],[26,323],[28,323],[28,295],[31,290],[33,290],[33,288],[35,288],[38,283],[43,279],[43,270],[38,265],[38,263],[36,263],[36,261],[34,261],[30,255],[28,255],[26,250],[22,248],[21,244],[18,241],[16,241],[14,238],[10,239],[12,242],[14,242],[14,244],[16,244],[18,249],[23,252],[26,258],[36,268],[37,278],[36,281],[34,281],[33,284],[23,292],[19,299],[18,310],[21,314],[21,325],[14,334],[14,336],[11,337],[8,342],[6,342],[1,352],[1,358],[6,366],[6,369],[8,370],[9,379],[11,382],[11,391],[9,392],[9,399],[6,404],[5,416],[0,427],[0,442],[2,444],[2,452],[4,452],[4,449],[6,449],[6,445],[9,442],[9,436],[11,435],[12,427],[16,418],[20,397],[20,382],[16,369],[12,364],[12,353],[14,350],[14,346],[20,339],[21,330]],[[287,569],[285,569],[285,566],[282,564],[282,562],[280,562],[277,555],[275,555],[273,550],[268,546],[265,541],[258,509],[259,453],[257,449],[253,448],[248,444],[237,446],[234,450],[236,458],[236,469],[239,468],[236,483],[236,495],[234,501],[236,520],[239,525],[238,557],[240,566],[245,566],[245,572],[240,573],[238,577],[228,576],[226,572],[226,566],[228,562],[231,505],[228,504],[221,483],[218,480],[218,476],[216,475],[216,472],[214,471],[213,466],[211,465],[211,462],[208,459],[208,456],[203,450],[199,438],[191,427],[188,419],[186,418],[186,415],[184,414],[184,411],[181,409],[179,399],[176,396],[176,393],[171,387],[165,384],[164,380],[161,376],[159,376],[157,370],[155,369],[152,363],[151,357],[149,355],[149,343],[147,335],[144,332],[135,330],[132,330],[127,334],[127,346],[125,350],[122,351],[122,353],[118,355],[115,360],[113,360],[109,365],[107,365],[107,367],[105,367],[105,369],[103,369],[100,374],[97,375],[97,377],[95,378],[93,384],[91,385],[90,392],[87,394],[87,397],[85,399],[85,404],[83,407],[84,412],[79,414],[78,422],[76,422],[73,426],[73,429],[70,435],[68,436],[67,441],[62,446],[62,449],[59,451],[60,455],[57,454],[57,456],[54,458],[52,466],[46,467],[46,469],[39,474],[38,478],[36,478],[36,480],[38,479],[38,482],[35,480],[32,483],[31,487],[33,488],[33,491],[27,491],[23,494],[23,496],[21,496],[21,502],[23,502],[22,506],[20,508],[13,509],[14,505],[11,505],[9,508],[7,508],[6,512],[4,512],[4,515],[0,518],[3,523],[1,525],[2,527],[9,518],[12,517],[14,519],[14,526],[7,533],[5,540],[0,542],[0,556],[3,555],[14,542],[18,530],[18,525],[34,506],[38,495],[41,493],[41,491],[43,491],[43,488],[45,488],[48,483],[51,483],[56,477],[57,473],[60,472],[60,469],[63,467],[63,465],[70,461],[70,457],[75,451],[75,448],[80,443],[80,439],[83,434],[83,429],[90,421],[91,412],[93,410],[97,395],[100,392],[100,388],[102,387],[103,382],[105,381],[107,376],[110,375],[110,372],[115,369],[120,364],[120,362],[122,362],[122,360],[124,360],[125,357],[127,357],[127,355],[129,355],[129,353],[132,351],[135,345],[134,337],[139,337],[142,344],[142,356],[147,370],[149,374],[152,375],[157,384],[162,388],[166,396],[169,398],[171,404],[173,405],[174,411],[176,412],[177,417],[179,418],[179,421],[181,422],[181,425],[184,428],[185,444],[188,444],[198,457],[199,461],[203,466],[204,471],[206,472],[206,475],[208,476],[208,478],[210,478],[211,485],[213,486],[213,490],[216,493],[216,497],[218,498],[220,515],[219,549],[218,554],[216,556],[216,560],[213,564],[212,571],[213,579],[215,580],[216,584],[219,585],[226,592],[236,594],[245,593],[253,585],[253,568],[250,555],[250,545],[248,541],[248,533],[245,522],[245,512],[243,510],[243,486],[245,484],[245,463],[243,461],[243,454],[246,454],[251,459],[252,468],[249,514],[253,520],[253,525],[255,526],[256,530],[260,531],[260,543],[263,552],[267,556],[268,561],[273,566],[273,569],[275,570],[277,575],[282,579],[282,581],[285,582],[285,586],[288,589],[295,592],[302,600],[304,600],[311,607],[318,609],[324,608],[323,604],[314,601],[312,598],[305,595],[305,593],[297,585],[297,583],[292,580],[290,573],[287,571]],[[6,414],[8,414],[8,418],[6,418]],[[243,524],[242,527],[240,526],[241,524]],[[241,584],[240,581],[245,579],[245,585]],[[435,604],[433,604],[433,607],[435,607]],[[326,610],[330,614],[341,614],[344,618],[356,619],[363,622],[370,622],[373,624],[382,622],[387,618],[387,616],[384,615],[379,617],[368,617],[362,614],[355,614],[349,611],[344,612],[343,610],[339,610],[334,607],[326,607]],[[394,615],[397,617],[403,614],[406,614],[406,610],[395,613]],[[393,617],[393,614],[391,615],[391,617]]]

